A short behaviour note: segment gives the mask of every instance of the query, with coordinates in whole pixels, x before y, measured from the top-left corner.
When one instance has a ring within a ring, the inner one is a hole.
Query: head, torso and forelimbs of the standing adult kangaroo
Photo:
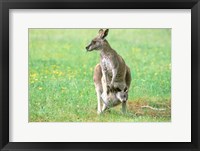
[[[102,98],[107,102],[108,89],[119,88],[123,90],[126,87],[125,77],[127,66],[123,58],[111,48],[105,37],[108,35],[109,29],[100,29],[98,35],[86,47],[87,51],[100,51],[100,66],[102,71]]]

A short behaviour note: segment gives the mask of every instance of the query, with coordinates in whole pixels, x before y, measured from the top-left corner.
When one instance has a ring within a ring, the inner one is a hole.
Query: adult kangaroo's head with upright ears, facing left
[[[87,51],[102,50],[106,40],[105,37],[108,35],[109,29],[100,29],[98,35],[91,41],[91,43],[86,47]]]

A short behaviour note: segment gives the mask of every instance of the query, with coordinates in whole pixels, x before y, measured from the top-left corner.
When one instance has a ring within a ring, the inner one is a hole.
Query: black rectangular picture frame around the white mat
[[[191,9],[191,142],[9,142],[9,9]],[[200,151],[199,51],[199,0],[0,0],[0,148],[4,151],[111,149]]]

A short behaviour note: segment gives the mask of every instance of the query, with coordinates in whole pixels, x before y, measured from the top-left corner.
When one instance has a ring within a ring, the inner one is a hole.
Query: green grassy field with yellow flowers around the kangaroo
[[[29,122],[170,122],[171,30],[110,29],[106,39],[132,74],[126,115],[121,105],[96,113],[100,53],[85,47],[97,32],[29,29]]]

